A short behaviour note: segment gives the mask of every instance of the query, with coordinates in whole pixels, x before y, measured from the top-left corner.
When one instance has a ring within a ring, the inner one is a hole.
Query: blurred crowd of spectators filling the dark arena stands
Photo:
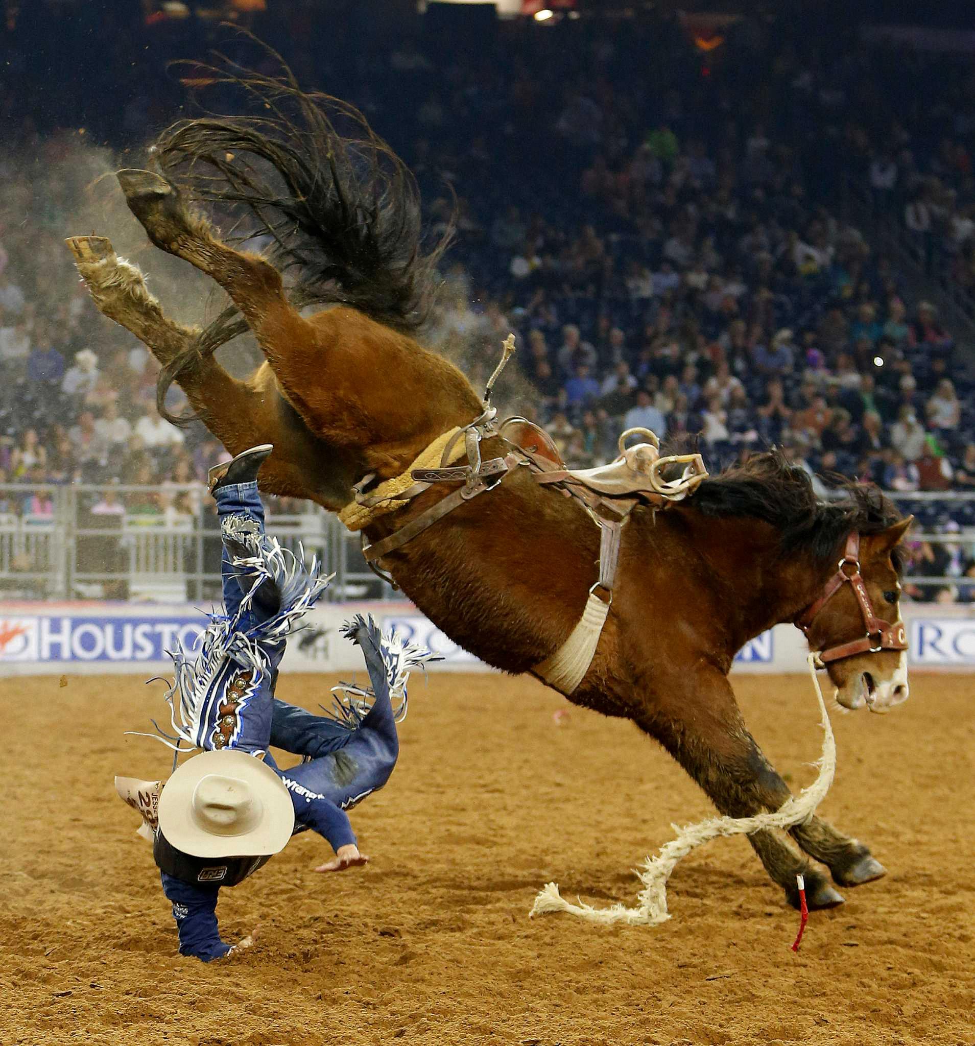
[[[824,175],[835,170],[812,149],[861,99],[857,62],[793,45],[772,54],[748,26],[744,59],[702,76],[674,22],[587,26],[558,44],[536,25],[509,26],[498,53],[485,46],[473,63],[409,40],[366,48],[352,66],[334,46],[317,65],[286,48],[307,82],[357,101],[403,153],[434,231],[450,213],[445,181],[456,195],[459,240],[428,339],[482,384],[514,332],[521,381],[508,396],[576,467],[613,457],[618,433],[640,426],[699,434],[711,469],[775,445],[824,495],[834,474],[905,498],[975,492],[973,384],[952,332],[837,218]],[[150,30],[130,27],[118,55],[136,31]],[[635,59],[648,33],[660,54],[652,70]],[[138,61],[140,88],[114,138],[104,111],[55,118],[16,92],[0,99],[19,128],[16,147],[0,149],[0,484],[24,484],[22,495],[0,486],[0,514],[43,518],[52,500],[36,484],[67,482],[108,487],[92,513],[191,514],[199,492],[167,488],[199,483],[223,453],[201,426],[159,417],[155,362],[97,314],[63,246],[92,176],[80,119],[100,120],[120,149],[175,115],[172,84],[154,95],[159,69]],[[876,191],[892,178],[915,217],[955,187],[967,217],[951,234],[971,259],[973,110],[963,92],[955,100],[954,137],[917,161],[916,177],[903,136],[884,145],[843,133]],[[156,490],[114,495],[116,482]],[[975,524],[975,502],[904,507],[925,529]],[[915,597],[975,599],[965,546],[920,542],[915,556],[922,572],[958,578]]]

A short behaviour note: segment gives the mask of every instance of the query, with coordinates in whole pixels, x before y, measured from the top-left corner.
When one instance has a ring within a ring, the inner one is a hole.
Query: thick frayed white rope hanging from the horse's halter
[[[718,836],[748,836],[763,828],[790,828],[794,824],[802,824],[808,821],[816,813],[816,808],[825,798],[826,792],[830,791],[833,774],[836,770],[836,742],[826,712],[826,703],[823,700],[819,679],[816,676],[815,654],[809,656],[809,670],[813,677],[813,686],[816,688],[820,725],[822,726],[822,754],[815,764],[819,767],[819,774],[809,788],[788,799],[772,814],[756,814],[754,817],[742,818],[716,817],[684,828],[679,828],[676,824],[672,825],[677,833],[677,838],[666,843],[655,858],[648,858],[641,869],[636,872],[643,884],[643,889],[637,895],[638,904],[635,908],[627,908],[622,904],[615,904],[609,908],[593,908],[582,901],[577,905],[573,905],[563,900],[555,883],[548,883],[535,899],[531,915],[540,915],[545,912],[571,912],[573,915],[579,915],[592,923],[602,923],[604,926],[612,923],[626,923],[630,926],[657,926],[671,917],[666,899],[666,884],[671,872],[673,872],[677,862],[686,857],[695,847]]]

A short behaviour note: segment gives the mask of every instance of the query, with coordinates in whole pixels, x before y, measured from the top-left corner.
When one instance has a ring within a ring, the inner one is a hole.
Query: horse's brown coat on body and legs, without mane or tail
[[[330,141],[331,149],[341,147],[340,139]],[[289,304],[274,267],[221,243],[171,182],[131,170],[119,180],[152,242],[226,291],[267,363],[249,381],[235,382],[212,356],[194,357],[191,332],[174,334],[158,304],[146,305],[144,291],[135,293],[133,285],[113,298],[97,274],[89,278],[82,266],[83,274],[103,311],[163,362],[173,360],[174,339],[184,340],[182,353],[190,362],[177,380],[229,451],[275,445],[260,474],[266,490],[340,508],[365,473],[398,475],[440,433],[480,412],[463,374],[409,335],[348,308],[301,316]],[[72,245],[76,255],[92,250],[109,262],[113,256],[105,241]],[[502,453],[497,440],[484,447],[486,456]],[[779,497],[788,493],[785,487]],[[431,488],[376,521],[366,536],[385,537],[443,496]],[[881,593],[895,583],[889,551],[901,533],[891,528],[863,540],[863,575],[875,606],[887,615],[898,613]],[[780,554],[780,543],[769,523],[742,515],[705,517],[694,498],[667,511],[636,509],[623,530],[604,635],[571,695],[576,704],[632,719],[733,816],[775,809],[789,793],[745,729],[727,681],[731,660],[747,639],[793,620],[835,570],[835,561],[814,554],[812,543],[789,556]],[[382,565],[462,646],[521,673],[568,637],[596,578],[597,556],[598,531],[584,509],[516,471]],[[836,643],[859,635],[861,627],[853,595],[843,593],[819,616],[811,638]],[[851,658],[831,667],[831,675],[848,685],[865,665],[884,678],[895,662],[890,654]],[[814,819],[793,835],[839,882],[854,884],[883,871],[864,846],[823,822]],[[803,871],[814,906],[839,902],[823,877],[783,840],[759,834],[752,843],[792,900],[795,876]]]

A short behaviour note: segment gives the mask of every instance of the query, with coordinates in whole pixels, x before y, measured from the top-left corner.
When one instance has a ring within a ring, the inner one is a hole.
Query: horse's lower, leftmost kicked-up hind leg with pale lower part
[[[274,453],[260,470],[262,488],[321,501],[322,493],[327,494],[324,483],[316,481],[321,445],[303,430],[281,400],[267,365],[249,381],[232,378],[212,356],[196,351],[199,331],[165,316],[146,289],[142,273],[117,257],[109,240],[72,236],[67,244],[105,316],[134,334],[163,366],[180,358],[187,361],[177,382],[206,427],[231,454],[259,442],[274,444]],[[340,499],[340,505],[345,498]]]

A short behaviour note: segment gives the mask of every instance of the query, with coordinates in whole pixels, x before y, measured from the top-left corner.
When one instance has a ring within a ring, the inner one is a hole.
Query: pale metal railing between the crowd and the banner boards
[[[212,504],[199,483],[184,485],[67,486],[0,484],[0,599],[134,599],[157,602],[221,597],[221,541]],[[960,545],[975,561],[975,493],[888,492],[905,513],[943,505],[945,515],[969,515],[958,530],[922,530],[911,545]],[[388,599],[390,585],[366,566],[358,535],[316,505],[303,510],[266,498],[268,529],[286,548],[300,544],[335,574],[326,598]],[[959,511],[960,510],[960,511]],[[955,558],[957,562],[957,558]],[[975,577],[908,569],[905,585],[923,592],[955,587],[975,597]]]

